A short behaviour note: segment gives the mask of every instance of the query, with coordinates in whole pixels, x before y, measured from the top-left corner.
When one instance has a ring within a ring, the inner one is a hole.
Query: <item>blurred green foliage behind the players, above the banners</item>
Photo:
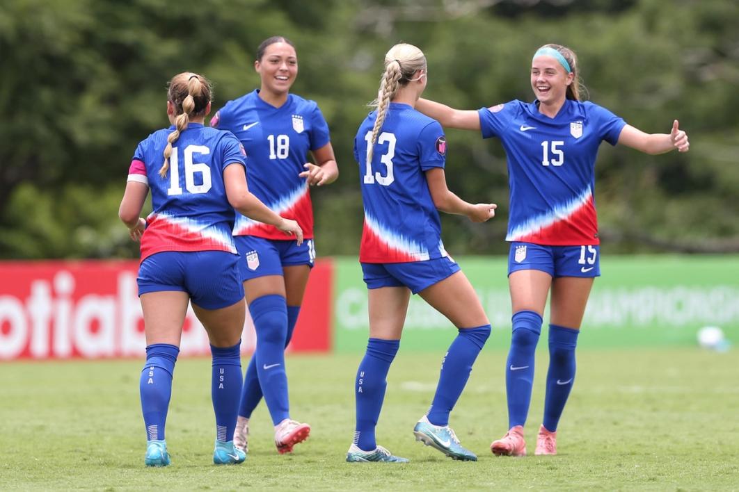
[[[679,119],[691,142],[662,156],[602,146],[604,251],[739,251],[738,25],[735,0],[4,0],[0,257],[137,257],[118,204],[135,146],[168,125],[166,83],[202,73],[219,108],[259,85],[270,35],[296,44],[293,92],[319,103],[341,170],[313,192],[321,255],[358,252],[353,138],[399,41],[426,53],[426,97],[469,109],[532,100],[535,49],[571,46],[590,100],[650,133]],[[499,204],[482,226],[444,216],[447,249],[507,252],[503,148],[447,140],[450,189]]]

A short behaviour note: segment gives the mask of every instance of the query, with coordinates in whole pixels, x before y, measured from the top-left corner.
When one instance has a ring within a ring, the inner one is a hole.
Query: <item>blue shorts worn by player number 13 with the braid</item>
[[[450,257],[406,263],[362,263],[367,288],[407,287],[413,294],[460,271]]]

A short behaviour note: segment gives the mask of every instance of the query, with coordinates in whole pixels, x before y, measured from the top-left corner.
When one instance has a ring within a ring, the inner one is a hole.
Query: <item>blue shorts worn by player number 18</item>
[[[241,280],[251,280],[265,275],[282,275],[283,266],[307,265],[313,268],[316,248],[312,239],[298,246],[294,239],[276,240],[256,236],[234,236],[239,250],[239,275]]]

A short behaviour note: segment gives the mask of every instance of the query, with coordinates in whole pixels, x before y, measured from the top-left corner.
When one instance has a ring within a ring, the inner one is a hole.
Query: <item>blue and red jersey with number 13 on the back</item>
[[[441,125],[407,104],[390,103],[369,164],[367,143],[375,117],[372,111],[354,139],[364,202],[359,260],[402,263],[446,257],[439,213],[424,174],[444,167]]]

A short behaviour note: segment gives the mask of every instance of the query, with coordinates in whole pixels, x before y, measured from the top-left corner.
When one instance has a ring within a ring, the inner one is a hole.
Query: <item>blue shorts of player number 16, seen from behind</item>
[[[236,254],[223,251],[152,254],[139,267],[139,295],[182,291],[190,294],[192,303],[201,308],[225,308],[244,298],[238,262]]]

